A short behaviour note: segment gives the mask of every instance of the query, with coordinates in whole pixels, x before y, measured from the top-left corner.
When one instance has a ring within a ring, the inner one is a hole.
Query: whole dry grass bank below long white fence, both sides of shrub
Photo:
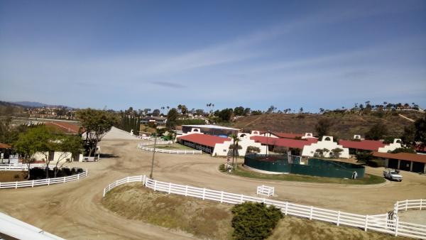
[[[143,187],[123,185],[109,192],[102,204],[128,219],[187,231],[202,239],[231,239],[231,204],[167,195]],[[353,227],[285,216],[268,239],[404,239]]]

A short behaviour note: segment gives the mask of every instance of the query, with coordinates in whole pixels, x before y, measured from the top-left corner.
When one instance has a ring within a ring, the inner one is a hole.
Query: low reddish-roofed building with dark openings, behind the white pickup
[[[386,168],[426,173],[426,155],[415,153],[379,153],[373,156],[385,160]]]

